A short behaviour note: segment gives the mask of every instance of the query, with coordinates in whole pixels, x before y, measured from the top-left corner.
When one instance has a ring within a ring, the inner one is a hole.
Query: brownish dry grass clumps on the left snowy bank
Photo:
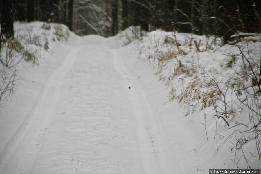
[[[26,62],[33,62],[33,65],[37,65],[39,60],[39,50],[43,47],[45,51],[49,49],[49,42],[46,37],[46,33],[38,35],[37,32],[33,31],[33,28],[28,28],[26,24],[25,33],[15,36],[15,38],[5,39],[1,42],[1,53],[4,59],[0,59],[0,62],[9,68],[16,66],[22,59]],[[47,27],[47,28],[46,28]],[[46,30],[50,30],[50,24],[44,23],[41,27]],[[69,37],[69,31],[64,31],[62,25],[54,24],[57,40],[65,39]],[[45,37],[45,39],[44,39]]]

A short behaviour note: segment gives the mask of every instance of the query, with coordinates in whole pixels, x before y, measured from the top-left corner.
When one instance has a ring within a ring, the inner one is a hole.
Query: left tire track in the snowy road
[[[75,41],[80,42],[80,38]],[[30,173],[48,126],[64,78],[73,67],[78,48],[71,48],[63,63],[48,75],[23,123],[0,154],[0,173]]]

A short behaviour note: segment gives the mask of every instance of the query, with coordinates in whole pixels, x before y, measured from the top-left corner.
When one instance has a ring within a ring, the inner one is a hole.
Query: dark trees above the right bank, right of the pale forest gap
[[[260,0],[122,0],[122,28],[219,35],[261,32]]]

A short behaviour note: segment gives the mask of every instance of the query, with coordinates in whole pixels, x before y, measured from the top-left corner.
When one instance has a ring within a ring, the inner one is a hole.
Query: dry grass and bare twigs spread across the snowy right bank
[[[239,132],[240,136],[231,134],[228,137],[231,137],[230,142],[235,145],[231,150],[241,149],[248,140],[253,139],[257,150],[255,157],[261,159],[261,42],[248,43],[248,40],[240,42],[241,45],[236,42],[234,48],[227,46],[218,50],[220,45],[216,43],[217,38],[206,36],[205,40],[199,37],[194,40],[190,37],[185,41],[179,38],[180,35],[168,35],[154,39],[149,48],[140,47],[141,60],[146,60],[157,68],[159,80],[170,85],[169,101],[177,100],[190,114],[212,107],[215,111],[213,117],[221,118],[229,126],[228,129],[239,125],[234,132]],[[221,50],[223,56],[228,52],[231,55],[226,55],[228,59],[225,62],[210,58],[210,62],[212,59],[221,63],[220,67],[214,65],[218,71],[213,71],[206,63],[204,65],[207,68],[203,69],[196,63],[197,59],[193,58],[195,54],[206,56],[206,53],[200,52]],[[206,115],[204,116],[206,121]],[[242,136],[248,139],[242,139]],[[250,167],[243,151],[242,154]],[[237,158],[238,161],[240,158]]]

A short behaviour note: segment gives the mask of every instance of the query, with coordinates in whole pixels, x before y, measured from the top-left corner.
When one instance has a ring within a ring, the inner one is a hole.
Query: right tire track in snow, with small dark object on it
[[[129,98],[133,107],[137,147],[143,173],[183,173],[152,94],[142,78],[137,79],[138,75],[125,66],[123,54],[119,51],[112,51],[114,66],[126,86],[133,86]],[[127,78],[137,80],[130,81]]]

